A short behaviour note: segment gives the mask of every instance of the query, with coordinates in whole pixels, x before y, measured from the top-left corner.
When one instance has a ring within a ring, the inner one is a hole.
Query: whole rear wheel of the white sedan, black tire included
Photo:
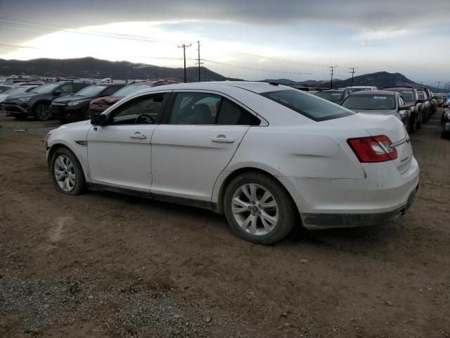
[[[255,197],[252,200],[250,196]],[[258,172],[243,173],[229,183],[224,194],[224,211],[231,230],[257,244],[281,241],[293,229],[297,215],[297,208],[283,185],[274,177]]]

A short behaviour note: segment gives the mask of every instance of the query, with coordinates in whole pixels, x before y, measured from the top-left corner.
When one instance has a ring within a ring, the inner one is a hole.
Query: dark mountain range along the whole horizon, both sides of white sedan
[[[4,60],[0,59],[0,75],[38,75],[39,77],[87,77],[104,78],[113,77],[113,79],[133,80],[133,79],[158,79],[179,80],[184,77],[183,68],[160,67],[158,65],[148,65],[145,63],[131,63],[129,61],[107,61],[98,58],[36,58],[28,61]],[[200,76],[202,81],[224,81],[238,80],[229,79],[212,70],[201,67]],[[186,78],[188,82],[198,81],[198,68],[186,68]],[[278,84],[295,85],[304,87],[329,88],[329,80],[306,80],[293,81],[289,79],[271,79],[265,82],[276,82]],[[352,84],[352,79],[333,80],[333,88],[348,87]],[[355,76],[353,84],[375,86],[378,88],[388,86],[409,86],[422,87],[419,83],[410,80],[400,73],[377,72]],[[437,89],[430,87],[432,91]]]

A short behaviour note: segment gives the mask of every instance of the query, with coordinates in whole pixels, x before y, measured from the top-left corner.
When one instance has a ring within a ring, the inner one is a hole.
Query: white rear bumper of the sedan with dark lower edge
[[[403,174],[390,162],[366,163],[364,170],[367,177],[362,180],[278,179],[290,191],[308,229],[385,223],[411,206],[419,183],[415,158]]]

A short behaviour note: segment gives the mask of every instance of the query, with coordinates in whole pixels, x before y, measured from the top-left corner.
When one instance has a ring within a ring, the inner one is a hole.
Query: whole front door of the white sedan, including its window
[[[166,92],[139,96],[108,113],[107,123],[88,133],[91,181],[150,192],[150,139],[167,101]]]

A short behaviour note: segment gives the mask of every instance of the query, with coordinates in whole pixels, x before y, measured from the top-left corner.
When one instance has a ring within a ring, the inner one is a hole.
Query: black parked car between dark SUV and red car
[[[51,116],[61,122],[87,120],[89,104],[93,99],[109,96],[117,92],[124,84],[91,84],[75,94],[59,97],[51,103]]]

